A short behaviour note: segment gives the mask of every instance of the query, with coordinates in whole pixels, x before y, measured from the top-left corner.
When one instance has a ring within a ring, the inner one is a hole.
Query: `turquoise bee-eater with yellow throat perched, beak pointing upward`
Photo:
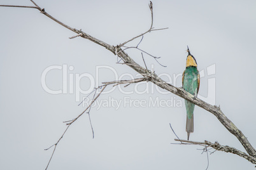
[[[187,49],[188,56],[186,62],[186,69],[182,75],[182,88],[185,89],[188,93],[194,95],[194,98],[197,97],[200,86],[200,75],[197,70],[196,58],[190,54],[189,49]],[[186,131],[188,134],[188,140],[190,133],[194,132],[194,108],[195,105],[190,101],[185,100],[185,106],[187,110],[187,122],[186,122]]]

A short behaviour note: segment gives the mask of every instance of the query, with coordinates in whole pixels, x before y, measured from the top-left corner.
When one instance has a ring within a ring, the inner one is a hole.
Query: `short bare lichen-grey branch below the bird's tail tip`
[[[188,141],[188,140],[180,140],[180,139],[174,139],[175,141],[180,141],[181,143],[178,143],[180,145],[203,145],[203,146],[207,146],[207,147],[211,147],[214,148],[215,150],[218,151],[222,151],[222,152],[227,152],[227,153],[231,153],[231,154],[236,154],[239,157],[243,157],[245,159],[247,159],[248,161],[252,162],[253,164],[256,164],[256,159],[255,157],[252,157],[248,154],[245,154],[245,152],[241,152],[241,150],[238,150],[236,148],[233,147],[229,147],[229,146],[224,146],[224,145],[220,145],[220,143],[218,143],[217,141],[215,141],[215,143],[211,143],[210,141]]]

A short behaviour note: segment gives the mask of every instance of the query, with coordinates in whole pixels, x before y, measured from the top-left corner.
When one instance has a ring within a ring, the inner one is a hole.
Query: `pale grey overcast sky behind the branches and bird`
[[[35,1],[61,22],[111,45],[150,27],[146,0]],[[32,5],[29,0],[0,4]],[[153,27],[169,29],[146,34],[139,44],[167,66],[144,54],[148,69],[178,87],[188,45],[201,71],[199,98],[220,105],[254,147],[255,8],[254,0],[153,1]],[[69,39],[75,33],[38,10],[1,7],[0,21],[0,169],[45,169],[53,148],[44,149],[59,140],[66,129],[62,122],[87,106],[85,102],[78,107],[87,96],[82,93],[101,82],[140,75],[117,64],[117,56],[102,46],[80,37]],[[140,51],[126,52],[144,66]],[[206,169],[203,147],[171,144],[176,136],[169,123],[179,138],[187,138],[182,98],[150,82],[109,86],[106,91],[90,110],[95,138],[85,114],[68,129],[48,169]],[[245,152],[214,115],[199,107],[190,140],[218,141]],[[224,152],[209,155],[209,162],[208,169],[255,169]]]

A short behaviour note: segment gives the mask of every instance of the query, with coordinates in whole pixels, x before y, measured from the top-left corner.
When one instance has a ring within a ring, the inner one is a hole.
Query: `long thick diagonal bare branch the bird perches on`
[[[34,1],[32,1],[32,0],[31,0],[31,2],[34,3]],[[170,91],[174,95],[178,95],[181,98],[184,98],[185,100],[188,100],[188,101],[194,103],[195,105],[197,105],[201,108],[204,108],[204,110],[207,110],[208,112],[211,112],[211,114],[215,115],[217,117],[217,119],[223,124],[223,126],[230,133],[234,134],[234,136],[236,136],[236,138],[238,138],[238,140],[241,142],[241,144],[245,148],[246,152],[251,157],[256,158],[255,148],[252,147],[250,142],[247,140],[246,136],[233,124],[233,122],[231,120],[229,120],[224,115],[222,110],[220,110],[220,107],[217,107],[215,105],[210,105],[210,104],[206,103],[205,101],[200,100],[199,98],[194,98],[193,95],[191,95],[190,93],[185,91],[183,88],[177,88],[177,87],[163,81],[162,79],[160,79],[160,77],[157,74],[155,74],[155,72],[151,72],[150,70],[145,69],[145,68],[141,67],[141,65],[139,65],[138,63],[134,62],[134,60],[120,48],[120,47],[124,46],[124,44],[126,44],[127,42],[130,42],[130,41],[132,41],[132,40],[134,40],[138,37],[141,37],[141,36],[145,35],[147,32],[150,32],[150,31],[153,30],[152,29],[152,25],[153,25],[153,6],[152,6],[152,2],[150,2],[150,5],[149,5],[150,6],[150,11],[152,13],[152,24],[151,24],[150,29],[148,31],[146,31],[145,33],[143,33],[143,34],[130,39],[129,41],[125,41],[124,43],[120,44],[119,46],[111,46],[110,44],[107,44],[106,42],[103,42],[99,39],[96,39],[95,37],[90,36],[89,34],[83,32],[82,30],[73,29],[72,27],[69,27],[68,25],[60,22],[56,18],[53,18],[53,16],[46,13],[44,8],[40,8],[36,3],[34,3],[34,4],[36,6],[35,8],[38,9],[41,13],[43,13],[43,15],[45,15],[48,18],[54,20],[55,22],[59,23],[63,27],[66,27],[67,29],[75,32],[76,34],[79,34],[79,35],[82,34],[81,37],[83,37],[85,39],[89,39],[90,41],[95,42],[96,44],[99,44],[99,45],[103,46],[104,48],[110,50],[113,54],[118,55],[118,57],[122,58],[122,60],[124,60],[125,64],[128,65],[129,67],[131,67],[133,70],[136,70],[136,72],[138,72],[139,74],[141,74],[143,76],[149,77],[148,80],[151,81],[153,84],[159,86],[162,89],[166,89],[167,91]],[[26,8],[24,6],[12,6],[12,7]],[[27,8],[29,8],[29,7],[27,7]],[[155,30],[159,30],[159,29],[155,29]],[[68,125],[75,122],[82,114],[80,114],[76,119],[71,121]],[[56,145],[57,144],[55,144],[55,147],[56,147]],[[253,162],[254,162],[254,160],[253,160]]]

